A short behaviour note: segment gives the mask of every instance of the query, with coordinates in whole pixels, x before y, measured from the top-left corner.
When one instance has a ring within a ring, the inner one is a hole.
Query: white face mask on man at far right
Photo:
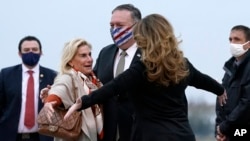
[[[248,49],[244,49],[243,46],[248,44],[249,41],[247,41],[246,43],[244,44],[233,44],[231,43],[230,44],[230,51],[231,51],[231,54],[234,56],[234,57],[239,57],[241,55],[243,55],[245,52],[248,51]]]

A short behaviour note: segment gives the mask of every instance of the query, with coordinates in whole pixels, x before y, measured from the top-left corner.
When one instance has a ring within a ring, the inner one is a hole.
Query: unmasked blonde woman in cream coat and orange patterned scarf
[[[61,59],[61,68],[54,84],[48,91],[45,99],[47,117],[53,115],[55,107],[68,109],[74,104],[76,98],[88,95],[101,87],[101,82],[92,72],[93,59],[91,45],[84,39],[73,39],[65,44]],[[82,110],[82,132],[77,141],[98,141],[102,139],[102,114],[99,107]],[[55,141],[67,141],[54,138]]]

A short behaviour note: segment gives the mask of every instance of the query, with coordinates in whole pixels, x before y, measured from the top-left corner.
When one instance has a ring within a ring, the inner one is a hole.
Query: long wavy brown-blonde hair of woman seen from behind
[[[169,86],[178,84],[189,74],[173,28],[163,16],[146,16],[135,25],[133,34],[141,48],[149,81]]]

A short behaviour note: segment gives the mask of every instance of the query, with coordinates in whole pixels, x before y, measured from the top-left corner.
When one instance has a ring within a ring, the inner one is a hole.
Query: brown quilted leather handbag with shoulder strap
[[[73,78],[72,83],[76,99],[76,90]],[[41,109],[37,119],[38,132],[47,136],[59,137],[67,140],[77,140],[81,134],[81,112],[74,112],[67,120],[64,120],[63,117],[67,112],[66,109],[56,108],[54,111],[54,115],[51,117],[52,122],[50,122],[46,116],[46,110],[44,108]]]

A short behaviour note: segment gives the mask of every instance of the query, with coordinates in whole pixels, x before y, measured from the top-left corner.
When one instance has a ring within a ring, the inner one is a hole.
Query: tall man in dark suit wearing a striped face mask
[[[117,75],[116,68],[121,52],[126,51],[123,70],[140,59],[140,50],[132,36],[132,28],[139,20],[141,12],[131,4],[119,5],[112,11],[110,32],[114,44],[100,51],[94,67],[94,72],[102,83],[109,82]],[[118,96],[109,99],[103,103],[103,112],[104,141],[128,141],[134,120],[134,108],[128,97]]]

